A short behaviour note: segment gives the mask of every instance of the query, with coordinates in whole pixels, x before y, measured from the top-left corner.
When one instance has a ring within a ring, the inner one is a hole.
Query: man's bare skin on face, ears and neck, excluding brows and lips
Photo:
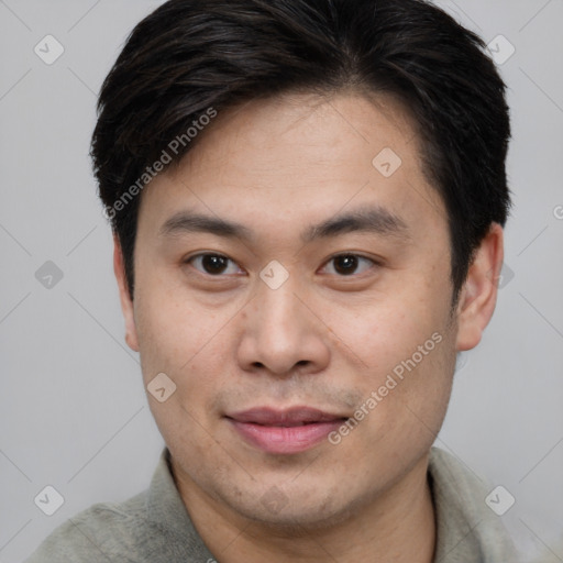
[[[456,352],[477,345],[493,314],[503,230],[492,225],[452,307],[446,212],[424,179],[413,131],[390,99],[253,101],[220,114],[143,194],[133,300],[115,241],[126,342],[141,353],[145,386],[163,372],[177,386],[165,402],[148,401],[190,517],[222,563],[346,563],[374,553],[432,561],[429,450]],[[372,165],[385,147],[402,161],[388,178]],[[405,229],[302,239],[368,208]],[[163,233],[178,211],[234,221],[250,235]],[[206,273],[191,260],[203,252],[232,262]],[[332,260],[342,253],[362,256],[356,271],[342,274]],[[273,260],[289,275],[278,289],[260,277]],[[225,418],[257,406],[352,417],[434,333],[434,350],[338,445],[271,454]]]

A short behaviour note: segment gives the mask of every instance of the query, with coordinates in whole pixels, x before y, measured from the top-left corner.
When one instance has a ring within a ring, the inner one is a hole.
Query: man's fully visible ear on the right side
[[[459,352],[475,347],[490,321],[497,302],[504,260],[504,232],[493,223],[477,249],[457,303]]]

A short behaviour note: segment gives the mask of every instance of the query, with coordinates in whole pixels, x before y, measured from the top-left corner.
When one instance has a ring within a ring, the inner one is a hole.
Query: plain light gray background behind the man
[[[0,563],[56,526],[146,487],[163,442],[125,345],[111,235],[88,143],[96,92],[150,0],[0,0]],[[529,553],[563,562],[562,0],[440,1],[488,43],[512,110],[506,231],[514,272],[483,343],[464,354],[438,444],[516,497],[503,517]],[[47,34],[65,52],[34,53]],[[558,212],[559,211],[559,212]],[[35,272],[53,261],[63,279]],[[54,516],[34,504],[46,486]]]

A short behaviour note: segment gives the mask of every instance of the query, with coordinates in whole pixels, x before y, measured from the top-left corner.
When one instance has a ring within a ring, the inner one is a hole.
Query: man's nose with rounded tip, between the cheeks
[[[329,330],[318,308],[298,296],[289,282],[278,289],[262,284],[243,320],[240,366],[286,377],[324,369],[330,361]]]

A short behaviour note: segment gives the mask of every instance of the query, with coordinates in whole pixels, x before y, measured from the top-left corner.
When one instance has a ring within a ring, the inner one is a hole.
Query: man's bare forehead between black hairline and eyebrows
[[[140,223],[148,216],[157,228],[189,207],[265,229],[289,219],[306,225],[364,203],[444,220],[407,111],[389,98],[291,95],[220,113],[153,179]]]

